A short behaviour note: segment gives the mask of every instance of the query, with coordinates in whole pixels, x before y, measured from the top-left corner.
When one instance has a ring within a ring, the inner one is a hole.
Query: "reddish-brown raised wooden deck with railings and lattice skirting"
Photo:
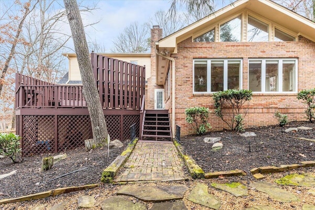
[[[111,139],[126,141],[134,123],[140,135],[145,67],[94,53],[91,61]],[[22,137],[23,155],[69,150],[92,138],[82,85],[52,84],[19,73],[15,84],[16,133]]]

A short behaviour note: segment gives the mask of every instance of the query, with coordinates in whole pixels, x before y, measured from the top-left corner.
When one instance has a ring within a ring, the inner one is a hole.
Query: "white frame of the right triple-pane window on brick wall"
[[[266,91],[266,61],[278,61],[278,91]],[[295,61],[295,90],[294,91],[282,91],[283,90],[283,61],[284,60],[294,60]],[[261,61],[261,91],[252,91],[252,93],[264,93],[264,94],[274,94],[274,93],[297,93],[298,92],[298,59],[297,58],[251,58],[248,59],[248,90],[250,87],[250,62],[251,61]]]

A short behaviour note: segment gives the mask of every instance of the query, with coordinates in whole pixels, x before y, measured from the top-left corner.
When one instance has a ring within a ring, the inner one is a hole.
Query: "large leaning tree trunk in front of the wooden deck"
[[[95,144],[107,138],[107,126],[100,104],[82,19],[76,0],[63,0],[72,32],[75,52],[83,84],[83,95],[88,105]]]

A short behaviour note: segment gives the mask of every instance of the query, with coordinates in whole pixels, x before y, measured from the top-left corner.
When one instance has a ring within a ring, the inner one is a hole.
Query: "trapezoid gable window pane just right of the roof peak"
[[[247,40],[249,42],[269,41],[268,24],[265,24],[252,16],[248,16]]]

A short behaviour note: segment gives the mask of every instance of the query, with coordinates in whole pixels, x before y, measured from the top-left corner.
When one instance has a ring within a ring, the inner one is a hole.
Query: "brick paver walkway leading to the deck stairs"
[[[114,181],[187,180],[184,166],[173,143],[138,142]]]

